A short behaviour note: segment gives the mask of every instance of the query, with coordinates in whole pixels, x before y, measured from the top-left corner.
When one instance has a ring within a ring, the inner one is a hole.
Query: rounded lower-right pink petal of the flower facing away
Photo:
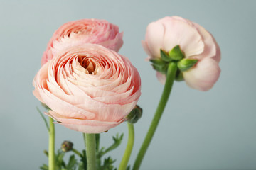
[[[196,64],[196,67],[183,72],[186,84],[193,89],[207,91],[213,87],[220,76],[218,62],[212,58],[205,58]]]

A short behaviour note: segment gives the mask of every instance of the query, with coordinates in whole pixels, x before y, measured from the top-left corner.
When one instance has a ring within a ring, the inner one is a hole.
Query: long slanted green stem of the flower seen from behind
[[[156,113],[154,118],[151,122],[149,130],[146,134],[144,142],[142,144],[141,149],[139,150],[139,154],[134,163],[133,170],[138,170],[139,166],[142,164],[142,159],[146,154],[146,149],[149,147],[149,144],[152,140],[154,132],[156,131],[157,125],[159,124],[159,120],[161,118],[162,113],[164,112],[164,108],[168,101],[169,95],[171,94],[171,87],[174,84],[174,79],[176,76],[177,65],[174,62],[171,62],[168,66],[167,73],[166,73],[166,83],[164,85],[164,91],[162,93],[161,99],[159,101],[159,106],[156,108]]]

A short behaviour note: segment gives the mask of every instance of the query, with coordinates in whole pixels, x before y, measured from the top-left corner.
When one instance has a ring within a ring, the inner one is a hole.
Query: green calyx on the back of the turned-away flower
[[[160,49],[161,58],[151,59],[152,67],[161,74],[166,74],[170,62],[176,63],[178,70],[176,72],[176,81],[183,81],[183,72],[191,69],[198,62],[196,59],[188,59],[181,51],[179,45],[176,45],[169,52]]]

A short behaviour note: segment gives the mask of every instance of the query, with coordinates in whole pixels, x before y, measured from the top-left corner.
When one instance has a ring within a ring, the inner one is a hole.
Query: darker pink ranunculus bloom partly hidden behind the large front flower
[[[48,42],[41,64],[51,60],[66,47],[85,43],[99,44],[118,52],[123,45],[122,35],[118,26],[105,20],[81,19],[64,23]]]

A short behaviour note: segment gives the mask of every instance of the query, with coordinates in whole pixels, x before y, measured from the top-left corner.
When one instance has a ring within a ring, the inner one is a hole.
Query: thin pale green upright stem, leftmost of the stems
[[[55,170],[55,128],[53,118],[49,118],[49,153],[48,164],[49,170]]]

